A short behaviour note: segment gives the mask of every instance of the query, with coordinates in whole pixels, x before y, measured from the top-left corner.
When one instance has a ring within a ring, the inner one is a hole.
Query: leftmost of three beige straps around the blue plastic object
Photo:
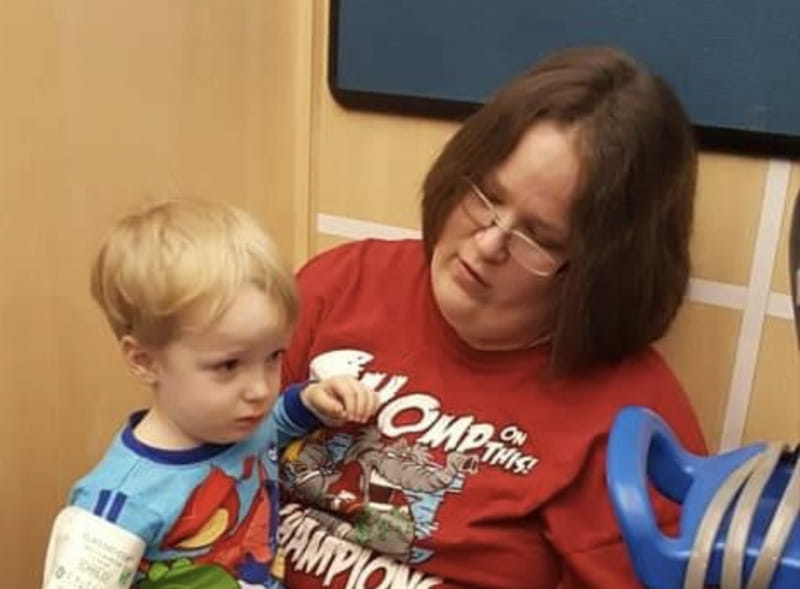
[[[760,454],[751,456],[744,463],[734,470],[728,478],[719,486],[714,496],[706,508],[700,526],[697,528],[692,552],[689,556],[689,564],[686,567],[686,575],[683,580],[683,589],[702,589],[705,587],[706,569],[711,558],[711,550],[714,547],[714,540],[717,531],[722,523],[725,512],[728,510],[739,489],[747,481],[750,473],[758,465]]]

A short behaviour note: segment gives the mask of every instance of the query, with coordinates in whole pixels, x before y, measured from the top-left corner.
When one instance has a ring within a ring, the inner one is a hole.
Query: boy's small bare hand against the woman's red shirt
[[[300,392],[303,404],[325,425],[366,423],[378,408],[378,394],[352,376],[333,376]]]

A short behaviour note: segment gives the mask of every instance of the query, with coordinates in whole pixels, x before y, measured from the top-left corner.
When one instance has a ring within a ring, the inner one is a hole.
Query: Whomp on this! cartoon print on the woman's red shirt
[[[447,414],[430,393],[399,395],[408,378],[370,371],[372,359],[369,352],[344,349],[311,362],[312,378],[359,378],[376,390],[381,408],[376,424],[323,430],[287,448],[282,461],[285,488],[291,497],[319,509],[284,509],[285,556],[297,552],[319,564],[327,555],[315,558],[309,553],[315,548],[325,552],[324,538],[330,536],[391,557],[395,562],[387,564],[392,568],[397,563],[419,565],[433,554],[425,540],[438,528],[440,507],[450,495],[461,493],[471,475],[481,468],[527,474],[536,465],[537,459],[524,450],[528,435],[519,426],[501,429],[473,415]],[[309,526],[317,531],[316,541]],[[297,542],[300,536],[307,542]],[[341,566],[354,555],[330,558],[331,565]],[[414,586],[438,582],[431,578]]]

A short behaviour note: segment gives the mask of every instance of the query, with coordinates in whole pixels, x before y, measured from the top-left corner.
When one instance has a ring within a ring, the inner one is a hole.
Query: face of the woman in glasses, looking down
[[[476,179],[506,228],[534,237],[562,263],[579,176],[576,135],[575,127],[536,123],[508,158]],[[509,254],[508,237],[496,224],[478,226],[457,204],[433,250],[436,303],[476,349],[523,348],[552,328],[560,277],[523,268]]]

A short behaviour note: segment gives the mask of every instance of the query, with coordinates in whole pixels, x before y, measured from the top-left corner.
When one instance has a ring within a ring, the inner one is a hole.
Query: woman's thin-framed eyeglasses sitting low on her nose
[[[508,236],[506,248],[509,255],[528,272],[536,276],[552,276],[563,267],[547,249],[533,237],[519,229],[512,229],[503,224],[497,214],[497,207],[471,178],[462,177],[466,194],[461,199],[461,207],[467,216],[481,229],[496,225]]]

